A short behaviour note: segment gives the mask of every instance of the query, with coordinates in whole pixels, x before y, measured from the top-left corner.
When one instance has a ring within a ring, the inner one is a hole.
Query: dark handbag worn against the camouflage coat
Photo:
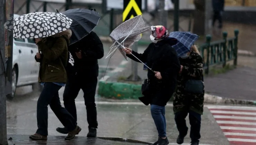
[[[187,91],[188,93],[203,94],[204,84],[202,80],[195,80],[195,79],[188,80],[185,84],[184,90]]]

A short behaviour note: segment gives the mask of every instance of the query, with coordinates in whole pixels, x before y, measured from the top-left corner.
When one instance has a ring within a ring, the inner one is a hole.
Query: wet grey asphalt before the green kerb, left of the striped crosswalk
[[[7,101],[7,133],[13,135],[31,135],[36,132],[36,104],[39,93],[28,93],[22,99]],[[157,131],[150,114],[150,106],[142,103],[128,105],[108,103],[97,98],[98,133],[99,137],[122,137],[139,141],[154,142],[157,139]],[[63,103],[62,103],[63,106]],[[88,123],[86,122],[86,109],[82,96],[76,99],[78,125],[82,131],[77,136],[86,136]],[[202,144],[228,145],[227,138],[214,120],[210,111],[205,107],[202,117]],[[174,122],[172,106],[166,107],[167,137],[171,143],[175,143],[178,135]],[[188,119],[188,118],[187,118]],[[187,120],[187,123],[188,120]],[[189,125],[189,124],[188,124]],[[52,110],[48,107],[48,134],[50,136],[63,136],[56,132],[56,127],[62,127]],[[27,138],[28,139],[28,138]],[[189,143],[189,135],[185,143]]]

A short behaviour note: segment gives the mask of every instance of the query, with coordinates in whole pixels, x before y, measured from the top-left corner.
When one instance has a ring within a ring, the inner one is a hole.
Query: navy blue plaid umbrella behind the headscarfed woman
[[[169,38],[174,38],[177,40],[177,44],[172,47],[176,50],[178,57],[188,53],[191,46],[199,38],[198,35],[191,32],[171,32]]]

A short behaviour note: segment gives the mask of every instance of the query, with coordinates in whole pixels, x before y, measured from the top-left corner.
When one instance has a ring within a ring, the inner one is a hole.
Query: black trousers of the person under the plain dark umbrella
[[[65,108],[75,118],[75,121],[77,121],[75,98],[77,97],[80,89],[83,90],[89,128],[98,127],[97,110],[95,104],[97,82],[97,77],[88,77],[86,79],[77,77],[75,79],[69,79],[63,94]]]

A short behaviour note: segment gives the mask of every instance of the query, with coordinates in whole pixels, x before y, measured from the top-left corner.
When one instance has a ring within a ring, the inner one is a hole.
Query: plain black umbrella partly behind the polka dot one
[[[88,9],[70,9],[62,13],[73,20],[70,26],[72,30],[70,45],[88,35],[100,20],[98,12]]]

